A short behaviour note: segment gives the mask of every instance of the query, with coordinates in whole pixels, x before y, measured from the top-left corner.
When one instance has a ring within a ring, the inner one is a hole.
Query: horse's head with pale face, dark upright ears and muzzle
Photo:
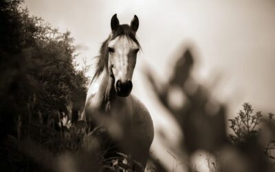
[[[108,43],[109,74],[114,78],[115,92],[118,96],[129,96],[133,83],[137,52],[140,45],[135,38],[139,25],[137,16],[133,17],[131,25],[120,25],[116,14],[111,18],[111,39]]]

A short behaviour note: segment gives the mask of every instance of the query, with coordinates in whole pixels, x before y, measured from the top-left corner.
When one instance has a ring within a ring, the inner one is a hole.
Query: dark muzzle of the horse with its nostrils
[[[115,92],[118,96],[126,97],[129,96],[133,88],[133,83],[131,80],[126,80],[122,82],[121,80],[116,81],[115,83]]]

